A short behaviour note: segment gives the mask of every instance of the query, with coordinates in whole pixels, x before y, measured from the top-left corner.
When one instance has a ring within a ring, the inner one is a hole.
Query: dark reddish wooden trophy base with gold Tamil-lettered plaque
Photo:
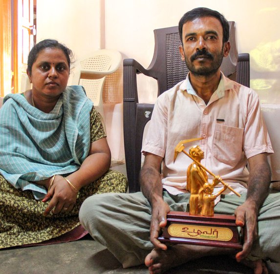
[[[189,212],[171,211],[167,226],[158,240],[170,244],[190,244],[242,249],[242,229],[239,232],[232,215],[215,214],[206,217]]]

